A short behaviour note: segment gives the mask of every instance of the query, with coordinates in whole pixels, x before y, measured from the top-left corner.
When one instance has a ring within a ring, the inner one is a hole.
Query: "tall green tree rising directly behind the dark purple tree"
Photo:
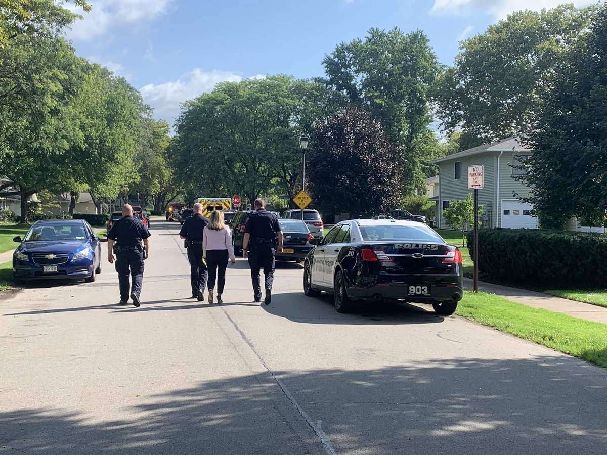
[[[426,35],[370,29],[364,41],[342,42],[322,63],[327,83],[380,118],[388,137],[404,146],[399,160],[407,193],[423,191],[432,177],[423,166],[436,145],[428,92],[439,73]]]

